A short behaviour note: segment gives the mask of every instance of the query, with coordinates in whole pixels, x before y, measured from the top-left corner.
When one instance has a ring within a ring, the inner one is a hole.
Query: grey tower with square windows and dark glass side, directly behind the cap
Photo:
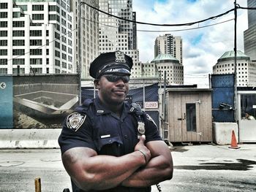
[[[132,0],[99,0],[99,9],[109,14],[99,12],[99,53],[121,50],[132,57],[132,77],[141,77],[136,23],[129,21],[136,20]]]

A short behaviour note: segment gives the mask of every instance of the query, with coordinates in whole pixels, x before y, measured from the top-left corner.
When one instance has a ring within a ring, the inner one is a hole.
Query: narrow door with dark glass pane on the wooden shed
[[[199,96],[183,94],[181,100],[182,142],[200,142]]]

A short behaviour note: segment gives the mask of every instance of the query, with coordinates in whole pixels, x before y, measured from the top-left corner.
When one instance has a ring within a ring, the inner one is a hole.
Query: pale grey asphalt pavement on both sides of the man
[[[160,183],[163,192],[256,191],[256,144],[180,145],[173,155],[173,179]],[[35,178],[42,192],[71,189],[59,149],[0,150],[0,191],[34,192]],[[71,190],[70,190],[71,191]],[[152,192],[157,192],[152,186]]]

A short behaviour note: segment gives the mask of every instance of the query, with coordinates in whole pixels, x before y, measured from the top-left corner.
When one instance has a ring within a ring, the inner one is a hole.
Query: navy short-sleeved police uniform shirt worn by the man
[[[145,123],[146,142],[161,140],[154,120],[145,112],[138,115],[138,110],[130,104],[124,104],[119,118],[106,109],[99,98],[86,99],[83,105],[67,116],[59,137],[61,153],[73,147],[89,147],[98,155],[121,156],[134,152],[138,143],[138,121]],[[73,192],[82,192],[72,183]],[[127,188],[117,186],[108,192],[151,191],[148,188]],[[92,192],[92,191],[90,191]],[[102,192],[102,191],[101,191]]]

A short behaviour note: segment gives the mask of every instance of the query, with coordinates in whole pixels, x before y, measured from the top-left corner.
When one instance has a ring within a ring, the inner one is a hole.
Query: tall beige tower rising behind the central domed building
[[[171,34],[157,37],[154,43],[154,56],[165,53],[173,55],[182,64],[182,39]]]

